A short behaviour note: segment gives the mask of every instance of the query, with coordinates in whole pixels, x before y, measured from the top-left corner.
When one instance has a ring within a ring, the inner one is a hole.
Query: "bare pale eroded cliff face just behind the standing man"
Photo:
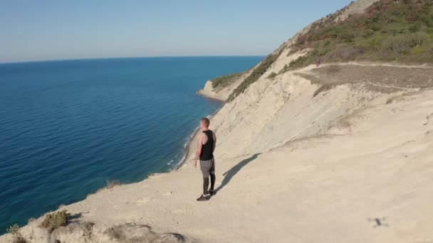
[[[267,77],[298,55],[283,53],[265,75],[213,117],[221,158],[264,152],[294,139],[325,134],[339,119],[387,95],[363,84],[337,85],[315,94],[321,85],[299,75],[312,66]]]

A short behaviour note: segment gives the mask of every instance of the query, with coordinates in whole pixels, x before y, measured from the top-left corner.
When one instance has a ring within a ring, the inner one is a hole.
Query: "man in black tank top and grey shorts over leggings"
[[[200,159],[200,170],[203,174],[203,194],[197,198],[197,201],[207,201],[209,194],[214,195],[215,185],[215,161],[214,151],[216,146],[216,135],[214,131],[209,130],[209,119],[200,119],[200,128],[202,132],[198,134],[197,153],[194,158],[194,167],[197,167],[197,160]],[[209,175],[211,177],[211,188],[209,187]]]

